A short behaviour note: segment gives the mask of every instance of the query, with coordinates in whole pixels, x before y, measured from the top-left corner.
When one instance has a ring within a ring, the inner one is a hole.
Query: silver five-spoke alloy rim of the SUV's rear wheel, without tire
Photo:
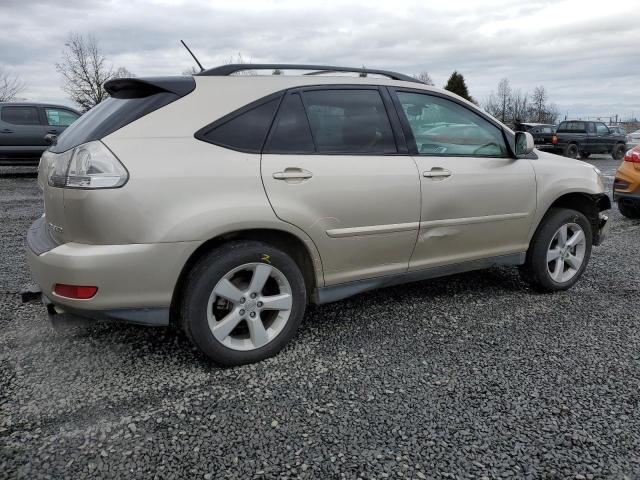
[[[246,263],[226,273],[207,305],[213,336],[233,350],[255,350],[271,342],[287,324],[293,295],[277,268]]]

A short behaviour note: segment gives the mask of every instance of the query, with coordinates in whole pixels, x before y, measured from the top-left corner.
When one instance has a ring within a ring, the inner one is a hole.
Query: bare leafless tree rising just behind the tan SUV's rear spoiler
[[[62,61],[56,70],[64,78],[62,89],[69,98],[87,111],[109,96],[104,82],[111,78],[132,77],[126,68],[114,70],[100,51],[92,35],[72,34],[65,43]]]

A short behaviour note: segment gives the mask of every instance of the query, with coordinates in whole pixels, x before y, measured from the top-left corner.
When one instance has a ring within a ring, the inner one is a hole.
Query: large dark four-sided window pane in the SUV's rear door
[[[377,90],[304,92],[318,152],[395,153],[391,124]]]

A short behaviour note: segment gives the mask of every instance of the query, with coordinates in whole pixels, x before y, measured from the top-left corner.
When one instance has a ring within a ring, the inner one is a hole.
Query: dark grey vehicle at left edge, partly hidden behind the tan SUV
[[[0,103],[0,165],[37,165],[49,144],[80,117],[69,107],[40,103]]]

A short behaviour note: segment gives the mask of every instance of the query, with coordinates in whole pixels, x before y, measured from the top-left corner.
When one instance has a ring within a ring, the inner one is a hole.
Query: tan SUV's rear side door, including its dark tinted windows
[[[262,179],[276,215],[315,242],[327,285],[408,268],[420,182],[399,132],[378,87],[299,89],[282,101]]]

